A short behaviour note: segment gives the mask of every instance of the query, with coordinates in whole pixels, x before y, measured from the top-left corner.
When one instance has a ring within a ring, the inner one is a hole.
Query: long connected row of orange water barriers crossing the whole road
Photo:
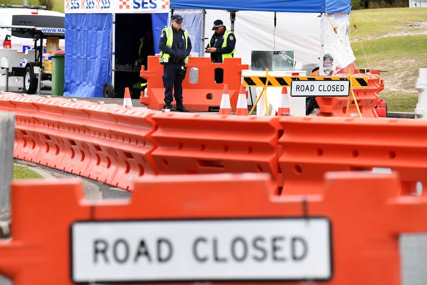
[[[127,190],[137,176],[245,171],[301,194],[326,171],[373,168],[398,171],[407,192],[427,185],[422,120],[161,113],[17,94],[0,94],[0,110],[16,116],[15,158]]]

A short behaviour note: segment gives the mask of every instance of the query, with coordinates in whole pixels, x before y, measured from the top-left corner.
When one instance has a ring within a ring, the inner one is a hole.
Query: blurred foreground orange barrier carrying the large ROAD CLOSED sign
[[[323,185],[272,199],[264,173],[149,176],[130,200],[89,202],[77,179],[13,181],[0,273],[15,285],[400,285],[397,236],[427,231],[427,198],[401,196],[396,173],[328,172]]]

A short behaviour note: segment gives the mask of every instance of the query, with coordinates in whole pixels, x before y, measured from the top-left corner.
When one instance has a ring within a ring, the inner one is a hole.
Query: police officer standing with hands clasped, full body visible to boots
[[[182,29],[184,18],[172,16],[172,25],[163,28],[160,34],[160,63],[163,64],[164,109],[171,109],[173,101],[172,88],[176,101],[176,111],[190,112],[182,105],[182,81],[187,73],[188,55],[191,52],[191,41],[187,30]]]

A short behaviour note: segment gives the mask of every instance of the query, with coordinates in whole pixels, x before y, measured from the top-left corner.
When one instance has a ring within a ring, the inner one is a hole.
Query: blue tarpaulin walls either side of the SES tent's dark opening
[[[167,13],[151,14],[153,38],[159,39]],[[64,96],[103,97],[112,83],[112,14],[65,14]],[[160,53],[154,43],[155,52]]]

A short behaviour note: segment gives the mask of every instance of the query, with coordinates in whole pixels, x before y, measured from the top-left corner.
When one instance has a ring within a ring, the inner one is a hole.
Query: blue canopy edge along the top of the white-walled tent
[[[294,13],[350,13],[351,0],[171,0],[171,9],[219,9]]]

